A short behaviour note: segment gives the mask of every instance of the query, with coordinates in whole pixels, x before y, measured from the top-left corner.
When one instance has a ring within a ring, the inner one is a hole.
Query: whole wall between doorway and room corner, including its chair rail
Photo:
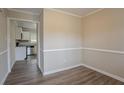
[[[44,9],[43,28],[45,73],[79,65],[79,48],[83,44],[81,18]]]

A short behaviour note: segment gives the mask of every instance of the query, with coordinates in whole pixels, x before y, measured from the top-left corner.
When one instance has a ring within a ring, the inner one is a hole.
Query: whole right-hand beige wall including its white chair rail
[[[124,9],[103,9],[83,18],[85,65],[124,78]]]

